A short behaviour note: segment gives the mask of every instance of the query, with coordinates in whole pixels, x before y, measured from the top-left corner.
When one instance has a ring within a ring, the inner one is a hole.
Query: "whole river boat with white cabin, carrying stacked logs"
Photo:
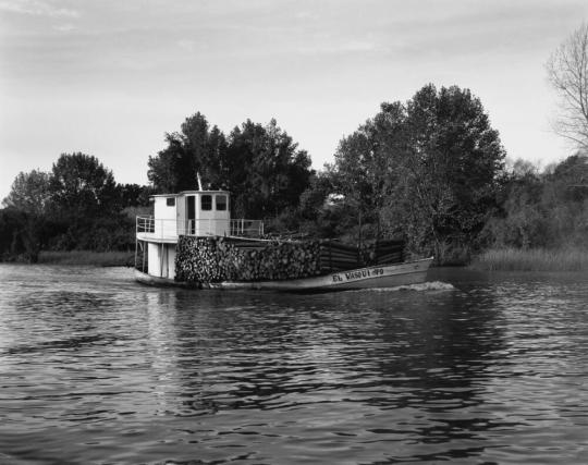
[[[397,241],[364,260],[357,247],[336,242],[262,238],[261,221],[231,219],[226,191],[200,187],[151,198],[154,216],[136,219],[135,280],[143,284],[290,292],[381,289],[425,282],[432,262],[404,260]],[[233,267],[226,278],[216,269],[232,261],[245,271]]]

